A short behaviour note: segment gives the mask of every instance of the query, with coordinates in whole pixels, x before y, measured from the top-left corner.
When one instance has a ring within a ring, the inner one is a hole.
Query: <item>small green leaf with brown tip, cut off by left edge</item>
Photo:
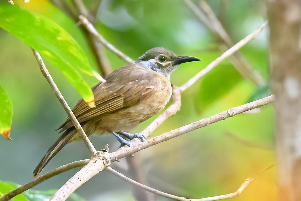
[[[4,89],[0,86],[0,134],[5,139],[10,140],[11,120],[13,118],[13,106],[11,99]]]

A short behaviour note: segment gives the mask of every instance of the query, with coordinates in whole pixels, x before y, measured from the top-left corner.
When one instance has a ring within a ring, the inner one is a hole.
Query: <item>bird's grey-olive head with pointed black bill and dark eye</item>
[[[141,57],[135,60],[135,63],[158,73],[170,77],[170,74],[178,68],[181,63],[190,61],[200,61],[196,57],[178,56],[170,50],[162,47],[147,50]]]

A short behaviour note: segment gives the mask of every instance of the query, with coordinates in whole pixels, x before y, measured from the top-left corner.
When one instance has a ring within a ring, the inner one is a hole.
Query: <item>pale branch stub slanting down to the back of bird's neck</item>
[[[134,60],[132,60],[129,56],[124,54],[122,51],[115,48],[111,43],[109,43],[106,39],[104,39],[103,36],[101,36],[98,31],[95,29],[95,27],[88,21],[88,19],[80,15],[79,16],[80,23],[85,26],[85,28],[93,34],[105,47],[107,47],[111,52],[116,54],[120,59],[124,60],[127,63],[133,63]]]

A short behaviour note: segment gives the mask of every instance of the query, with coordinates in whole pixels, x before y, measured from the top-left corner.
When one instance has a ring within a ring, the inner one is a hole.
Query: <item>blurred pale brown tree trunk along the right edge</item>
[[[301,200],[301,1],[268,0],[278,200]]]

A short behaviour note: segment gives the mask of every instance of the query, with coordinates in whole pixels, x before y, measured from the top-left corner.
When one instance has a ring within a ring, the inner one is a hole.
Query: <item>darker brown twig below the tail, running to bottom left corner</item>
[[[30,181],[29,183],[24,184],[23,186],[20,186],[17,189],[11,190],[9,193],[4,194],[2,197],[0,197],[0,201],[10,200],[14,196],[23,193],[24,191],[28,190],[29,188],[32,188],[32,187],[38,185],[39,183],[42,183],[43,181],[45,181],[55,175],[61,174],[62,172],[66,172],[67,170],[71,170],[73,168],[85,166],[88,162],[89,162],[89,159],[85,159],[85,160],[74,161],[74,162],[68,163],[66,165],[62,165],[61,167],[51,170],[50,172],[47,172],[46,174],[35,178],[33,181]]]

